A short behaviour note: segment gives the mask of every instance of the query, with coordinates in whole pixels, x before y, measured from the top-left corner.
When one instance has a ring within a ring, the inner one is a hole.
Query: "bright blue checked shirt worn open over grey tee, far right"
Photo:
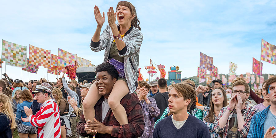
[[[248,136],[249,138],[255,138],[255,137],[264,137],[263,127],[264,127],[264,121],[266,120],[266,114],[270,108],[270,105],[263,109],[263,111],[260,111],[259,113],[256,113],[251,121],[251,127],[249,129]]]

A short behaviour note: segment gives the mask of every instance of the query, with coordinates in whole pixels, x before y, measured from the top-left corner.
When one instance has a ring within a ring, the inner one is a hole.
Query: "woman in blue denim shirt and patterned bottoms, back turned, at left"
[[[23,122],[21,121],[22,118],[26,118],[27,115],[24,111],[24,106],[28,108],[31,107],[33,104],[33,96],[29,90],[22,90],[20,92],[20,98],[22,103],[17,105],[17,112],[16,112],[16,120],[19,122],[18,124],[18,134],[20,138],[36,138],[36,127],[31,125],[30,122]]]

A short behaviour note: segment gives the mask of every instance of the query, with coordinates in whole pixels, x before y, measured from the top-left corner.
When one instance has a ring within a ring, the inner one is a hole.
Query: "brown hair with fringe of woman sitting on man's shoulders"
[[[130,10],[131,14],[135,15],[135,17],[131,21],[131,25],[141,31],[141,27],[139,26],[140,25],[140,21],[139,21],[139,19],[137,17],[137,13],[136,13],[135,7],[130,2],[121,1],[121,2],[118,2],[117,7],[116,7],[116,11],[117,11],[117,9],[118,9],[118,7],[120,5],[128,7],[128,9]]]

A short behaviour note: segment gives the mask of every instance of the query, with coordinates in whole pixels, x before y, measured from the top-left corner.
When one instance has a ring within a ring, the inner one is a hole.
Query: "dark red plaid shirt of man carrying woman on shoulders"
[[[99,99],[99,101],[94,106],[95,109],[95,118],[102,122],[102,102],[104,101],[104,97]],[[128,116],[128,124],[120,125],[119,122],[114,117],[112,110],[109,108],[104,121],[102,122],[103,125],[106,126],[113,126],[112,134],[100,134],[97,133],[95,135],[96,138],[109,138],[109,137],[139,137],[142,136],[144,132],[144,116],[141,104],[139,102],[138,97],[135,94],[127,94],[121,100],[121,105],[124,106],[127,116]],[[77,125],[77,131],[81,136],[89,136],[86,131],[84,131],[84,126],[86,125],[85,119],[83,114],[80,116],[79,123]]]

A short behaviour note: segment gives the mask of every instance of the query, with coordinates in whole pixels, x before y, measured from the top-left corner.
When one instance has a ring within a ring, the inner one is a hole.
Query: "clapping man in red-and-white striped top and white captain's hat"
[[[32,109],[24,106],[27,117],[21,118],[21,120],[38,127],[38,137],[59,138],[61,136],[59,107],[50,97],[52,90],[49,88],[51,87],[47,84],[46,87],[44,83],[36,85],[36,89],[32,92],[35,94],[37,102],[43,103],[42,107],[36,115],[33,115]],[[42,86],[43,84],[44,86]]]

